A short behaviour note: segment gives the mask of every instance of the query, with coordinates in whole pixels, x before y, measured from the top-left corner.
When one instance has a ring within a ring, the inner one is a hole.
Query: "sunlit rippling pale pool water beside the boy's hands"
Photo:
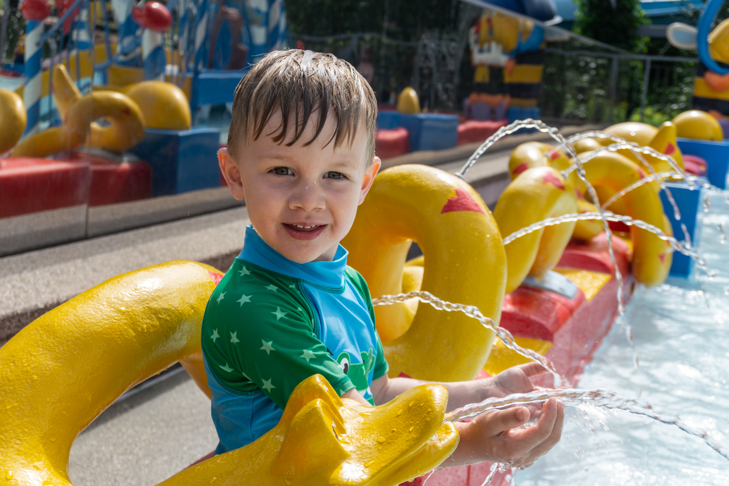
[[[609,388],[679,415],[729,448],[729,206],[709,195],[699,250],[716,272],[637,289],[578,388]],[[631,325],[639,367],[625,334]],[[607,428],[607,430],[605,430]],[[594,430],[594,432],[592,432]],[[678,428],[625,412],[590,420],[567,409],[561,442],[515,477],[518,486],[729,485],[729,461]]]

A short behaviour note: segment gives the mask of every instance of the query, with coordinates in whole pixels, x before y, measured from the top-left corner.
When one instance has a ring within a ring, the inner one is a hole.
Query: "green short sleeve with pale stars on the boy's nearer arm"
[[[341,393],[354,388],[314,334],[311,308],[296,281],[251,272],[238,285],[234,278],[218,286],[208,301],[203,352],[218,383],[239,395],[263,391],[281,409],[294,388],[317,373]]]

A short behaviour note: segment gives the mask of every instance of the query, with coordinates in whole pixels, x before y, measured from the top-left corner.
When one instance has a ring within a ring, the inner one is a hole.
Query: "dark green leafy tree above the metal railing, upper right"
[[[638,0],[575,0],[574,3],[577,12],[572,30],[577,34],[632,52],[645,50],[647,38],[638,37],[638,28],[650,20]]]

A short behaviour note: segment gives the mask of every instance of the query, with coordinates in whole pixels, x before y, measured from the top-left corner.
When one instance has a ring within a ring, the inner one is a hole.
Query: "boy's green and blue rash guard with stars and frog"
[[[356,388],[373,403],[370,384],[387,361],[367,283],[346,261],[339,246],[332,262],[292,262],[246,228],[203,318],[217,453],[270,431],[294,388],[316,373],[339,395]]]

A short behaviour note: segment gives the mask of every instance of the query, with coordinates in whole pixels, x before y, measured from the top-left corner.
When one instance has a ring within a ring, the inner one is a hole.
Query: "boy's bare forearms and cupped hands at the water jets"
[[[448,390],[448,411],[476,403],[493,396],[507,396],[511,393],[528,393],[534,390],[530,378],[546,370],[537,363],[512,367],[486,380],[456,383],[439,383]],[[392,378],[387,375],[373,380],[371,390],[376,404],[383,404],[400,393],[418,385],[423,380]],[[536,425],[518,428],[539,417]],[[527,467],[547,453],[562,433],[564,409],[555,399],[543,407],[512,407],[505,410],[491,410],[479,415],[470,423],[456,423],[461,436],[459,446],[446,459],[441,468],[464,466],[485,461],[508,463],[515,467]]]

